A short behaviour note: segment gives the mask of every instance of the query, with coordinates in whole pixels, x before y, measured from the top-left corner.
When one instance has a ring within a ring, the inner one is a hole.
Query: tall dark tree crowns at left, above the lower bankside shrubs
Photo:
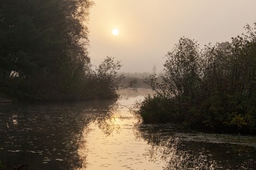
[[[0,2],[1,77],[58,69],[70,57],[86,62],[91,1],[3,0]]]

